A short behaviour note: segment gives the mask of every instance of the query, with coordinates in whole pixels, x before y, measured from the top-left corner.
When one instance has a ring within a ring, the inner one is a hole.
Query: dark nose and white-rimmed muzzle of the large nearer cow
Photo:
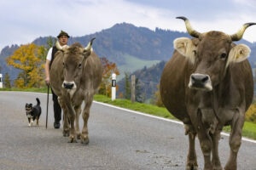
[[[212,90],[212,81],[208,75],[205,74],[191,74],[189,80],[189,88],[201,89],[201,90]]]

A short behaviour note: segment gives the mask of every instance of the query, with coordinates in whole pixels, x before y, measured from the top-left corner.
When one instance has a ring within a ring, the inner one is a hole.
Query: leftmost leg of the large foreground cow
[[[185,134],[189,134],[189,153],[187,156],[186,170],[197,170],[197,160],[196,160],[196,152],[195,152],[195,130],[192,125],[185,124]]]

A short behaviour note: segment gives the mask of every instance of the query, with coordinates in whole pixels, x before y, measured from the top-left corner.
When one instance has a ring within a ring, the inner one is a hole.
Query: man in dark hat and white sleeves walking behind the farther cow
[[[68,34],[65,31],[61,31],[60,34],[57,36],[58,41],[60,42],[61,46],[67,45],[68,41]],[[53,48],[49,48],[49,52],[46,57],[46,62],[45,62],[45,82],[47,85],[49,85],[49,70],[50,66],[55,59],[55,53],[58,51],[58,49],[54,46]],[[54,116],[55,116],[55,122],[54,122],[54,127],[55,128],[60,128],[61,127],[61,106],[58,102],[58,96],[54,93],[53,89],[51,89],[52,92],[52,99],[54,103]]]

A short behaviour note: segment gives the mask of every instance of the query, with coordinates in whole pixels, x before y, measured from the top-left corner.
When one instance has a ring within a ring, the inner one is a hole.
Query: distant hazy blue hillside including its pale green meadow
[[[173,52],[173,40],[177,37],[189,37],[185,32],[162,30],[156,28],[154,31],[145,27],[137,27],[127,23],[116,24],[111,28],[82,37],[70,37],[69,44],[80,42],[84,46],[91,37],[96,37],[93,48],[99,57],[106,57],[108,60],[118,65],[121,75],[124,72],[133,72],[142,69],[144,66],[150,67],[160,62],[168,60]],[[38,37],[33,42],[37,45],[46,45],[48,37]],[[246,43],[249,47],[253,44],[245,40],[239,43]],[[0,66],[3,75],[9,72],[11,79],[14,79],[19,71],[8,67],[4,58],[14,53],[19,48],[17,45],[3,48],[0,54]],[[253,49],[256,51],[256,49]],[[253,51],[253,53],[255,53]],[[250,61],[256,62],[256,57],[250,57]]]

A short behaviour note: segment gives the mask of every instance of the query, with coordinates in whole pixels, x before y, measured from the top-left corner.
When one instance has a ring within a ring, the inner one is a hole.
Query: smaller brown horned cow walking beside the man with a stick
[[[64,112],[64,136],[69,135],[67,120],[71,124],[70,142],[75,142],[80,137],[81,143],[89,143],[87,122],[90,115],[90,106],[93,96],[102,82],[101,60],[91,48],[94,39],[90,40],[86,48],[79,42],[73,43],[71,47],[62,48],[56,42],[56,47],[60,51],[55,54],[55,59],[49,71],[51,87],[57,94]],[[82,133],[80,133],[79,115],[83,101],[84,127]],[[74,121],[76,122],[75,127]]]

